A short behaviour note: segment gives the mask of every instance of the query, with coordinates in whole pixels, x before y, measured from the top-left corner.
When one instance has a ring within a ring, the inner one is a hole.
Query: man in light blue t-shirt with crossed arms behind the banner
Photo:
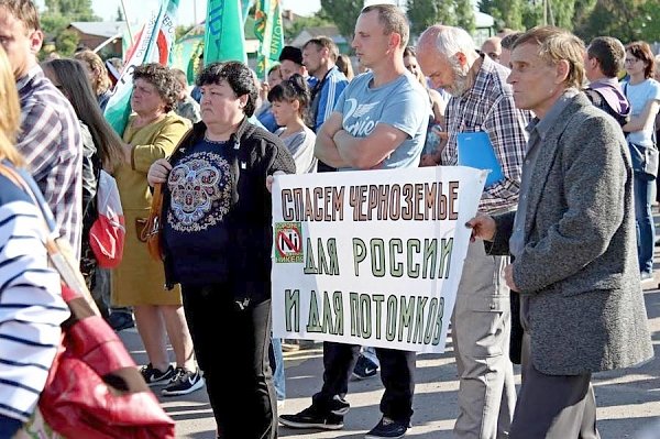
[[[362,10],[353,48],[370,73],[353,79],[317,133],[316,155],[340,169],[416,167],[430,112],[427,94],[404,66],[406,15],[391,4]],[[376,349],[385,393],[383,418],[365,438],[398,438],[413,416],[415,352]],[[360,345],[323,343],[323,387],[310,407],[279,421],[293,428],[340,429],[344,399]]]

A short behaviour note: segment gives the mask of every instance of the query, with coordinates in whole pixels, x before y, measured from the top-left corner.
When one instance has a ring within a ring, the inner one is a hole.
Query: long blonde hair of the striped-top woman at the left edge
[[[0,160],[7,158],[14,165],[21,166],[24,161],[14,146],[21,127],[21,105],[13,69],[2,46],[0,46],[0,102],[2,102],[2,110],[0,111]]]

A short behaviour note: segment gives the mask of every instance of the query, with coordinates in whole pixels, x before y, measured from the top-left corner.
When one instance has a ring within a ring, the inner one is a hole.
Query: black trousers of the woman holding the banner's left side
[[[224,284],[182,287],[195,354],[221,439],[277,437],[268,365],[271,300],[241,309]]]

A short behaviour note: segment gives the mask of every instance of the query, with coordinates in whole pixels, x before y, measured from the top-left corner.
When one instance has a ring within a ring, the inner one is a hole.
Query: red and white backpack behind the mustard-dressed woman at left
[[[99,266],[114,268],[123,256],[127,229],[117,182],[103,169],[96,197],[98,216],[89,230],[89,245]]]

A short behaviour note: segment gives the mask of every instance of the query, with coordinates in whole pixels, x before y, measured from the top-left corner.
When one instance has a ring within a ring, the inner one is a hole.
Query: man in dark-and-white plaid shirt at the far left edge
[[[36,54],[43,42],[38,14],[30,0],[0,0],[0,44],[7,52],[21,98],[16,147],[25,157],[61,237],[80,256],[82,224],[82,142],[68,100],[46,79]]]

